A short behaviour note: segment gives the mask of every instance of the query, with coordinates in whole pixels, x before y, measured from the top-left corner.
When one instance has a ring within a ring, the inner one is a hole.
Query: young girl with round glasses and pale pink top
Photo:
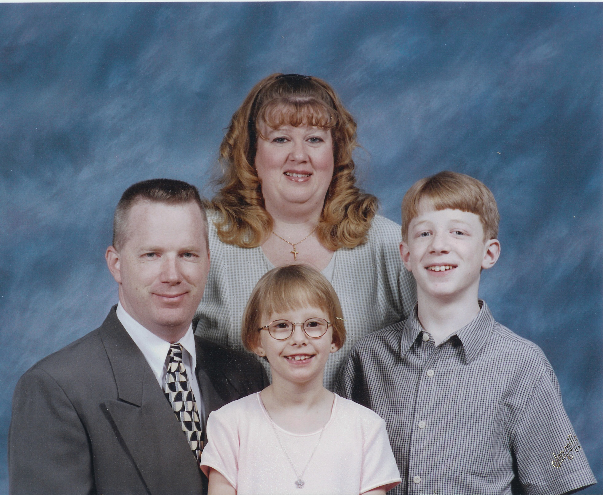
[[[272,384],[209,415],[201,469],[214,494],[384,494],[400,483],[385,422],[323,386],[346,340],[327,279],[280,266],[257,283],[242,340],[268,359]]]

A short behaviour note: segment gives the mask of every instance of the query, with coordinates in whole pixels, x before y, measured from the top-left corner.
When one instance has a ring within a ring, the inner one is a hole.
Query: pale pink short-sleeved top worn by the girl
[[[206,475],[210,467],[219,471],[238,495],[360,494],[400,483],[385,421],[370,409],[336,395],[320,433],[293,434],[279,426],[275,433],[259,393],[252,394],[209,415],[201,469]],[[301,477],[303,488],[295,485],[283,447],[299,474],[316,448]]]

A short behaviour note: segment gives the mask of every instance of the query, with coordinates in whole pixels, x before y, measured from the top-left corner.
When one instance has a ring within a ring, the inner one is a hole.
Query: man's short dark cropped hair
[[[207,234],[207,215],[205,207],[195,186],[182,180],[171,178],[152,178],[131,185],[121,195],[121,199],[115,208],[113,215],[113,247],[120,250],[126,241],[128,227],[128,213],[138,201],[151,201],[164,204],[186,204],[197,203],[203,217],[205,242],[209,250],[209,238]]]

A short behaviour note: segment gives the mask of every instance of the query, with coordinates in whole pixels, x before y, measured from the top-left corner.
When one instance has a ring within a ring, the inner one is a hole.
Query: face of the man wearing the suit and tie
[[[175,341],[191,324],[209,271],[200,207],[138,201],[128,213],[124,244],[107,262],[125,311]]]

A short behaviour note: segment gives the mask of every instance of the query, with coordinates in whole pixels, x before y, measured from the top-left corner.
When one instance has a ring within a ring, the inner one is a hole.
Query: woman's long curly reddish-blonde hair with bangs
[[[221,187],[208,205],[221,214],[215,222],[219,239],[253,248],[273,230],[254,165],[257,140],[262,139],[261,122],[271,128],[310,125],[331,131],[335,166],[316,234],[333,251],[365,242],[377,212],[377,198],[355,185],[356,122],[329,84],[298,74],[262,79],[232,116],[220,145]]]

